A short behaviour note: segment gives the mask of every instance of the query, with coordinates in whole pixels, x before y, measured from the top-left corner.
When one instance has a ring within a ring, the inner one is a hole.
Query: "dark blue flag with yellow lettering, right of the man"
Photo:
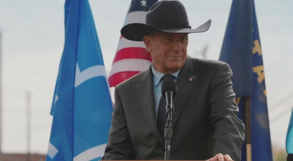
[[[233,0],[220,61],[233,71],[232,83],[239,106],[238,117],[246,122],[245,98],[251,99],[251,157],[272,161],[272,147],[265,90],[265,73],[253,0]],[[247,135],[247,134],[246,134]],[[246,140],[241,160],[246,161]]]

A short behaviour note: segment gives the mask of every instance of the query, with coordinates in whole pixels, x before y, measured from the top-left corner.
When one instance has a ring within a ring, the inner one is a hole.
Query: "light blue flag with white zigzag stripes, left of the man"
[[[88,0],[66,0],[65,44],[51,114],[47,161],[99,160],[113,111]]]

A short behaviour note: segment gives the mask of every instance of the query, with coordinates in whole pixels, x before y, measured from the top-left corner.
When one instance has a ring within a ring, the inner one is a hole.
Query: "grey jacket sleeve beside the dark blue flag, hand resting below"
[[[237,161],[241,157],[245,127],[237,118],[239,109],[232,89],[232,75],[232,70],[227,63],[218,66],[209,89],[209,107],[210,119],[215,130],[213,155],[228,154]]]

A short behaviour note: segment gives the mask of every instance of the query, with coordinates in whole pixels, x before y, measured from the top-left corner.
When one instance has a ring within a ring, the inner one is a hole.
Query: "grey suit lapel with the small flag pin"
[[[177,94],[174,97],[174,116],[173,127],[178,119],[178,116],[187,101],[193,86],[197,82],[199,71],[197,70],[197,64],[191,57],[187,57],[184,66],[181,68],[177,79]],[[191,79],[190,77],[195,77]]]

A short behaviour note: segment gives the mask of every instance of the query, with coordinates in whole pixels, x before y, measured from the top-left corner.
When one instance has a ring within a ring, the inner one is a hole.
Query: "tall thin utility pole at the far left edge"
[[[0,31],[0,161],[2,161],[2,47]]]

